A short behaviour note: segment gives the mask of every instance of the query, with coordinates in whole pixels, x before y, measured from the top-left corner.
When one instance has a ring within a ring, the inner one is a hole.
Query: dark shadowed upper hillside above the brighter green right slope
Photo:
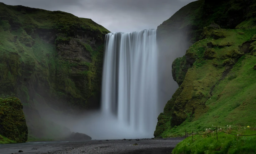
[[[186,31],[189,43],[195,43],[202,39],[201,33],[204,27],[215,22],[223,29],[255,28],[256,19],[254,10],[255,0],[250,1],[211,1],[198,0],[182,7],[168,20],[158,26],[159,38],[172,40],[173,35]],[[244,12],[244,10],[248,10]],[[180,35],[178,35],[180,37]],[[184,40],[185,42],[185,40]]]

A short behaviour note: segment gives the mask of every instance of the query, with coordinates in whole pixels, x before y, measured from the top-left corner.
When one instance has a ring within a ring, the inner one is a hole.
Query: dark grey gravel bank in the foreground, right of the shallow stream
[[[168,154],[183,138],[89,141],[81,147],[58,150],[52,154]],[[133,145],[137,143],[138,145]],[[47,154],[47,153],[40,153]]]

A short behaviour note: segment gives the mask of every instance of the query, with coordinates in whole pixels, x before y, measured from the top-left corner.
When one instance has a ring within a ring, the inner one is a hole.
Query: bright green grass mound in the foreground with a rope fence
[[[211,127],[215,129],[214,127]],[[220,127],[218,127],[220,128]],[[209,129],[209,128],[208,128]],[[222,127],[222,131],[231,134],[252,135],[256,134],[255,129],[247,127],[231,126]],[[200,134],[208,133],[204,130]],[[191,133],[191,132],[189,132]],[[173,154],[251,154],[256,152],[256,136],[237,136],[223,133],[218,130],[218,140],[216,131],[207,135],[193,135],[177,144]]]

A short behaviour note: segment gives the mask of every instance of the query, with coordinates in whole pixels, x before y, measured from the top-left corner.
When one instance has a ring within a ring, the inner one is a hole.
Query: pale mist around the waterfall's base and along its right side
[[[158,39],[157,42],[158,86],[156,88],[158,91],[157,115],[159,115],[163,112],[166,102],[170,100],[173,93],[178,88],[178,84],[173,80],[171,73],[172,62],[175,58],[185,55],[189,44],[186,35],[183,33],[176,33],[171,37],[166,36],[166,38]],[[91,136],[92,139],[134,139],[154,137],[154,132],[152,130],[155,129],[155,127],[151,129],[151,131],[139,131],[131,128],[125,122],[120,122],[114,114],[104,114],[101,110],[84,111],[82,114],[75,115],[67,114],[65,111],[55,111],[47,104],[43,103],[38,103],[35,108],[39,111],[41,118],[67,127],[72,132],[87,134]],[[152,120],[157,122],[157,116]],[[51,130],[49,129],[47,131]],[[63,132],[63,136],[64,135],[65,132]]]

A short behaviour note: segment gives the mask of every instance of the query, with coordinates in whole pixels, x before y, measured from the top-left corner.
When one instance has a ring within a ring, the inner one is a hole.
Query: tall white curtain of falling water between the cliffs
[[[117,128],[153,136],[157,82],[156,29],[106,34],[101,111],[117,117]]]

